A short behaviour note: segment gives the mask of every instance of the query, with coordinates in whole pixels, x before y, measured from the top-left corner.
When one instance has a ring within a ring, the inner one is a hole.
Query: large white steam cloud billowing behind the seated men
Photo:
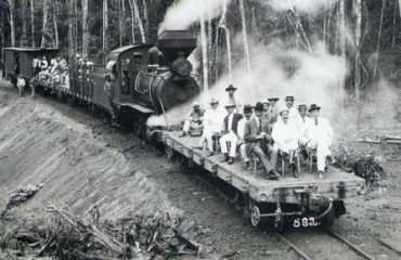
[[[294,95],[296,104],[318,104],[322,106],[324,116],[336,117],[340,96],[339,79],[347,72],[340,57],[328,54],[321,42],[313,46],[313,54],[287,50],[283,46],[279,40],[269,46],[250,46],[250,74],[245,64],[238,64],[231,79],[229,76],[223,77],[195,100],[208,108],[209,99],[223,100],[225,88],[233,83],[237,88],[237,96],[245,104],[254,105],[258,101],[277,96],[281,99],[277,106],[284,106],[284,98]],[[169,125],[183,120],[183,114],[190,108],[191,103],[186,103],[168,112],[166,116]],[[151,117],[148,125],[166,125],[165,117]]]

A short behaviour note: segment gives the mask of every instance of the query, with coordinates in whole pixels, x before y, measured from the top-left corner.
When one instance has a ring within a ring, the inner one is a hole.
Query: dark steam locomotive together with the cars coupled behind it
[[[199,86],[192,76],[192,64],[186,60],[195,48],[196,38],[190,31],[166,30],[155,46],[134,44],[112,51],[105,68],[77,56],[69,61],[61,79],[38,77],[31,83],[36,89],[60,98],[111,112],[103,87],[105,75],[112,75],[113,101],[119,119],[134,122],[137,131],[142,132],[151,115],[166,113],[198,94]],[[51,64],[59,50],[5,48],[4,53],[5,74],[12,79],[21,74],[28,82],[37,69],[31,64],[43,57]]]

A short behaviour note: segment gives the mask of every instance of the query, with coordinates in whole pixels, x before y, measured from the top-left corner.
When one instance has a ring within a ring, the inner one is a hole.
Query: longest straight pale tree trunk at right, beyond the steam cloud
[[[361,123],[361,25],[362,25],[362,3],[354,0],[355,12],[355,99],[357,99],[357,127]]]

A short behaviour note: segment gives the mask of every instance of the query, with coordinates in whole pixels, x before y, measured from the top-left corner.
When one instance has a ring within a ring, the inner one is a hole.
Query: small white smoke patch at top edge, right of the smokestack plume
[[[322,9],[333,6],[337,0],[260,0],[262,4],[268,4],[276,12],[296,10],[300,13],[316,14]]]

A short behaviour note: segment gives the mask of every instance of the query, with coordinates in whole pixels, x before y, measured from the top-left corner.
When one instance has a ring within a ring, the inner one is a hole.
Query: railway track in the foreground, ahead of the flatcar
[[[308,236],[305,237],[302,233],[307,233]],[[375,259],[332,230],[313,229],[292,234],[275,233],[275,235],[288,245],[300,259],[305,260],[333,259],[331,256],[344,260]]]

